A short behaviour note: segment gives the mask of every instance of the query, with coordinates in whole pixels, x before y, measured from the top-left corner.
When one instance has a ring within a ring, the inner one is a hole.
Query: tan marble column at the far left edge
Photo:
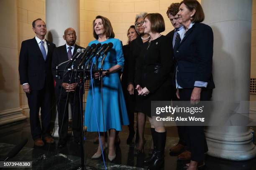
[[[0,1],[0,23],[0,125],[6,125],[26,119],[20,108],[15,0]]]

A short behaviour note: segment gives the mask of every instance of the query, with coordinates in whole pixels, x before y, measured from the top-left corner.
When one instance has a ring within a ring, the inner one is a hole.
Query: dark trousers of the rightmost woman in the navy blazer
[[[179,89],[181,101],[190,101],[193,89]],[[212,89],[203,89],[201,91],[200,101],[210,101]],[[188,150],[191,152],[191,160],[200,162],[205,159],[205,153],[208,151],[205,132],[203,126],[184,126],[185,141]]]

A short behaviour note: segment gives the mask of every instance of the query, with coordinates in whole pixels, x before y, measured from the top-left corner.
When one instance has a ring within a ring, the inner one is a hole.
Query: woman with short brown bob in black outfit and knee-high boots
[[[151,123],[151,134],[154,144],[153,155],[146,158],[149,170],[164,167],[164,147],[166,130],[162,122],[151,117],[151,101],[171,100],[172,76],[172,40],[161,35],[165,30],[164,18],[159,13],[151,13],[144,18],[144,33],[150,35],[148,45],[143,46],[136,72],[136,90],[141,96],[142,112]]]

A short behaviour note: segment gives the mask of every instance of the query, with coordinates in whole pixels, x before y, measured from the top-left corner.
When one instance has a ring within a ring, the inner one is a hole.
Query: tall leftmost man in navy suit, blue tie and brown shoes
[[[32,26],[36,36],[23,41],[20,48],[20,84],[28,97],[34,144],[44,146],[44,142],[54,143],[50,135],[51,93],[54,91],[51,60],[56,46],[45,39],[47,30],[43,20],[34,20]],[[38,114],[40,108],[41,124]]]

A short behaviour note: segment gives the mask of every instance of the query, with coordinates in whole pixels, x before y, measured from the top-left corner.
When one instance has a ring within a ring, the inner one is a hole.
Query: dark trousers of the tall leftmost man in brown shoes
[[[41,90],[31,90],[26,93],[29,107],[29,120],[33,140],[50,136],[51,122],[51,87],[45,82]],[[39,109],[41,108],[41,123],[39,120]]]

